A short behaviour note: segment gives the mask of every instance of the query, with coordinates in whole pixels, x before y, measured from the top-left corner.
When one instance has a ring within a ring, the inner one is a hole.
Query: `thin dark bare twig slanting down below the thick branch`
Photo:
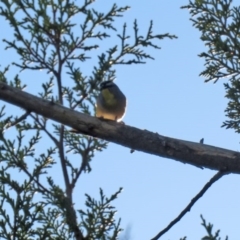
[[[223,177],[226,174],[229,174],[230,172],[227,171],[219,171],[217,174],[215,174],[209,182],[205,184],[205,186],[201,189],[201,191],[191,200],[191,202],[187,205],[185,209],[178,215],[177,218],[175,218],[172,222],[169,223],[169,225],[164,228],[161,232],[159,232],[154,238],[151,240],[157,240],[159,239],[164,233],[166,233],[173,225],[175,225],[178,221],[181,220],[181,218],[191,210],[191,207],[198,201],[200,197],[203,196],[203,194],[212,186],[213,183],[215,183],[218,179]]]

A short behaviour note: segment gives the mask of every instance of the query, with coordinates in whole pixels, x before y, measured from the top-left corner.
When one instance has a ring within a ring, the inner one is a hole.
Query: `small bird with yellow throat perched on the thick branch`
[[[100,84],[96,103],[96,117],[120,122],[126,111],[127,99],[112,81]]]

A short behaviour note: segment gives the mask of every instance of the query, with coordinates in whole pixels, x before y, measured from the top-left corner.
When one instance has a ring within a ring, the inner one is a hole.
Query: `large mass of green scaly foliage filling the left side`
[[[114,27],[128,6],[113,4],[100,12],[93,4],[93,0],[82,4],[69,0],[0,2],[0,16],[13,30],[13,38],[4,39],[6,50],[18,56],[13,69],[31,72],[31,76],[44,71],[46,79],[35,94],[89,115],[94,115],[99,84],[115,79],[116,65],[145,63],[153,59],[146,47],[160,49],[155,40],[176,38],[153,34],[152,22],[141,35],[137,20],[132,38],[127,24],[120,31]],[[119,42],[96,56],[94,51],[114,32]],[[92,65],[90,75],[81,70],[85,62]],[[24,89],[28,82],[19,78],[19,72],[13,80],[7,78],[9,66],[2,70],[0,80]],[[0,111],[1,239],[83,239],[83,233],[89,240],[118,239],[120,220],[114,218],[112,201],[120,190],[110,198],[100,190],[100,201],[86,194],[87,210],[75,209],[72,198],[80,175],[91,171],[91,161],[107,142],[69,132],[33,112],[20,112],[9,105]],[[59,169],[65,187],[57,184],[54,173]]]

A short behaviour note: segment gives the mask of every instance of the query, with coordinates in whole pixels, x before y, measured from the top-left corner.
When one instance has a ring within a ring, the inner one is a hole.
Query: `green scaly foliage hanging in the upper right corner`
[[[230,120],[222,126],[239,133],[240,7],[232,6],[232,0],[201,0],[190,1],[183,8],[190,10],[193,26],[201,32],[201,40],[208,48],[199,55],[206,66],[200,75],[206,82],[229,78],[224,86],[229,99],[225,112]]]

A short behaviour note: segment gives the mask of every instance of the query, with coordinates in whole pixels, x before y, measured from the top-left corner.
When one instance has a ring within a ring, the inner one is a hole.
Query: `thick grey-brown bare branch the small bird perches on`
[[[140,130],[113,121],[99,120],[43,100],[0,82],[0,99],[93,137],[130,149],[171,158],[182,163],[219,171],[240,173],[240,153],[210,145],[189,142]]]

